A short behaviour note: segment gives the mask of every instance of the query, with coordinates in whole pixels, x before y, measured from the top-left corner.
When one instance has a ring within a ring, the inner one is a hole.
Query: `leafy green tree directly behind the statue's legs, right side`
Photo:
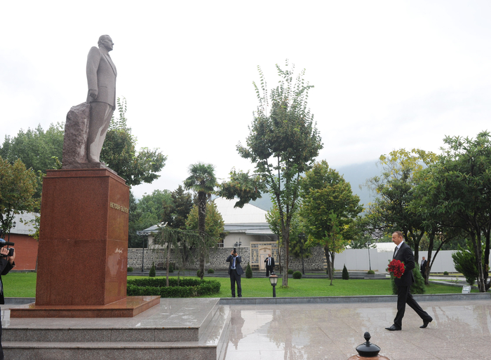
[[[137,139],[127,125],[126,99],[118,98],[119,118],[112,118],[104,146],[100,153],[101,161],[126,179],[126,185],[134,186],[152,183],[159,179],[158,173],[165,166],[167,156],[159,149],[141,148],[136,151]]]

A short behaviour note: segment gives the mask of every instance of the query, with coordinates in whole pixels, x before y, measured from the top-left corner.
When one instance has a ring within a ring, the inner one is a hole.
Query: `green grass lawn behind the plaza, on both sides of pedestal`
[[[128,279],[140,279],[138,276],[128,276]],[[196,278],[196,277],[194,277]],[[230,279],[228,277],[214,277],[222,284],[220,293],[203,298],[229,298]],[[6,297],[34,298],[36,296],[35,272],[11,272],[2,277]],[[278,279],[281,284],[281,279]],[[288,279],[288,288],[276,286],[278,297],[300,296],[356,296],[356,295],[391,295],[391,283],[389,279],[377,280],[342,280],[335,279],[330,286],[328,279]],[[473,289],[472,292],[477,292]],[[426,293],[462,293],[460,286],[446,286],[430,284],[426,287]],[[253,279],[242,278],[242,296],[245,298],[264,298],[273,296],[273,289],[267,277]]]

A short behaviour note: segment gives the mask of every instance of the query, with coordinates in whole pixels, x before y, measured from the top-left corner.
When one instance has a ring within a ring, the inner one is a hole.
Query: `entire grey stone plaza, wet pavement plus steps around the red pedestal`
[[[128,319],[10,319],[4,305],[2,324],[6,359],[347,360],[368,331],[390,360],[476,360],[491,359],[490,295],[416,296],[433,321],[408,307],[402,331],[385,330],[396,296],[167,298]]]

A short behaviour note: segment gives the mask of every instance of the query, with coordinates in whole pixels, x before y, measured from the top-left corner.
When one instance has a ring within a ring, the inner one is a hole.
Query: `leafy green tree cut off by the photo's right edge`
[[[447,147],[425,172],[424,182],[424,200],[434,207],[443,225],[462,231],[471,242],[480,292],[490,288],[490,137],[489,132],[480,132],[476,139],[445,137]]]

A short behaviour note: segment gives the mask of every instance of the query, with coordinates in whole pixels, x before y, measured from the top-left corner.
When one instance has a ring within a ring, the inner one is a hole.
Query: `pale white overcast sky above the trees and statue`
[[[315,86],[318,159],[332,167],[491,128],[490,1],[8,1],[1,13],[0,140],[64,122],[86,99],[88,50],[109,34],[137,147],[168,155],[137,198],[174,190],[194,162],[220,179],[252,169],[236,144],[257,66],[273,88],[285,59]]]

